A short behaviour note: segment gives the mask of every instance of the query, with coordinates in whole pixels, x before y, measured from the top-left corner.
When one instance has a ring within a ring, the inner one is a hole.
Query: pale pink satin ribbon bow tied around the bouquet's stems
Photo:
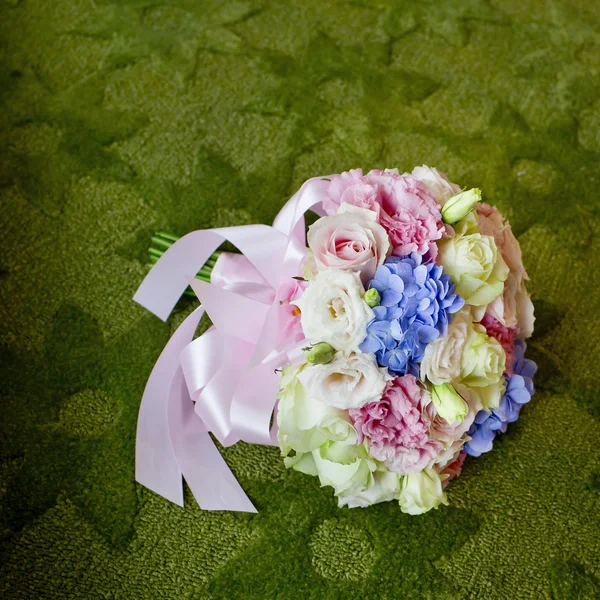
[[[256,512],[214,445],[243,440],[277,444],[271,426],[278,391],[275,369],[297,360],[297,343],[278,337],[278,292],[301,274],[306,256],[304,214],[320,208],[325,178],[309,179],[273,226],[194,231],[158,260],[134,300],[165,321],[188,285],[197,308],[173,334],[148,379],[137,425],[136,480],[183,506],[182,476],[205,510]],[[195,274],[224,242],[211,283]],[[194,338],[204,312],[213,322]]]

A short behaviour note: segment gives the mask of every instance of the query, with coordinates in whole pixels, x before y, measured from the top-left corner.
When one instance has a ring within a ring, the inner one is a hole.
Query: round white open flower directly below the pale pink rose
[[[324,269],[294,301],[302,313],[308,340],[327,342],[336,350],[358,350],[365,339],[373,310],[363,300],[365,289],[360,274]]]

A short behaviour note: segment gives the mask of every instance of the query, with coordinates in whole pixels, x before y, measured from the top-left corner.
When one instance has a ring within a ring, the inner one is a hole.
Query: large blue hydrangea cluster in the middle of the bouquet
[[[442,267],[416,253],[389,258],[368,287],[379,292],[381,304],[373,309],[361,351],[374,353],[394,375],[418,376],[425,346],[447,334],[450,315],[464,300]]]

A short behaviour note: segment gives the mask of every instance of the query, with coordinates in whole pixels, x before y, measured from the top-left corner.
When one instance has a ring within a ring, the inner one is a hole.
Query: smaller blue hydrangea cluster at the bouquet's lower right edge
[[[531,400],[534,391],[533,376],[537,365],[525,358],[526,348],[523,340],[515,340],[514,375],[506,378],[506,392],[498,408],[493,409],[491,413],[480,410],[475,416],[475,421],[468,431],[471,439],[464,447],[467,454],[481,456],[484,452],[489,452],[494,438],[499,433],[504,433],[508,424],[519,418],[521,407]]]

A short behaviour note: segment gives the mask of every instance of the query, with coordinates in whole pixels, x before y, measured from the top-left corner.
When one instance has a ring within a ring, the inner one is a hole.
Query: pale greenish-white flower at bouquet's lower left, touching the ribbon
[[[284,456],[311,452],[328,441],[356,444],[356,430],[346,411],[309,397],[298,374],[306,368],[291,366],[283,370],[277,411],[277,438]]]

